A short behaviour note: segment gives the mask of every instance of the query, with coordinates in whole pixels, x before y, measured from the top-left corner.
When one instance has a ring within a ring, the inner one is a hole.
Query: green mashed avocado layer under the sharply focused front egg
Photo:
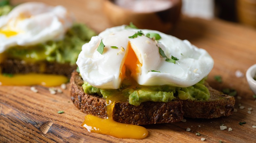
[[[138,106],[146,101],[169,102],[173,99],[206,101],[210,97],[210,93],[208,88],[204,86],[204,80],[191,87],[138,85],[135,89],[126,87],[122,89],[100,89],[91,86],[87,82],[84,82],[82,87],[87,94],[98,94],[104,98],[121,95],[124,97],[124,101],[129,101],[130,104]]]

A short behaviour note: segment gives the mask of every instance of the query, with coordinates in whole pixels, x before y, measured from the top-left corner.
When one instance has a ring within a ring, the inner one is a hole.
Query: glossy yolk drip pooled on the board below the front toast
[[[81,126],[86,128],[88,132],[111,135],[117,138],[145,138],[148,135],[146,128],[138,125],[119,123],[111,118],[115,102],[122,100],[123,97],[120,96],[114,96],[112,99],[107,97],[106,104],[108,118],[102,119],[93,115],[86,115]]]

